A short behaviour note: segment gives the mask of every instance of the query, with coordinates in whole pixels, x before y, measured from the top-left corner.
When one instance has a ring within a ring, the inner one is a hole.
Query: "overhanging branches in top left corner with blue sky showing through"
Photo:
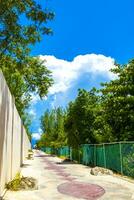
[[[1,0],[0,59],[6,54],[24,62],[29,45],[39,42],[42,34],[52,33],[46,23],[53,18],[53,12],[43,10],[34,0]]]

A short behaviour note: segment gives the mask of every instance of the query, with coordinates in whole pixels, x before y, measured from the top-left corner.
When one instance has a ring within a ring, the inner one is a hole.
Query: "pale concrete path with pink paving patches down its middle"
[[[134,199],[134,183],[110,175],[93,176],[87,166],[66,163],[41,151],[35,151],[34,160],[27,160],[21,173],[36,178],[38,190],[7,191],[4,200]]]

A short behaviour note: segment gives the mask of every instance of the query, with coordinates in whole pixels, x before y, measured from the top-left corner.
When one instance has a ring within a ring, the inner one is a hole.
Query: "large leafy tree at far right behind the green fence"
[[[114,141],[134,140],[134,60],[112,70],[117,79],[103,84],[105,120]]]

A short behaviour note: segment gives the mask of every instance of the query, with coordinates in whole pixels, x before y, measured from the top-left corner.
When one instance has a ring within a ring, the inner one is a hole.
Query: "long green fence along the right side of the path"
[[[88,166],[100,166],[134,178],[134,142],[83,144],[79,148],[45,148]]]

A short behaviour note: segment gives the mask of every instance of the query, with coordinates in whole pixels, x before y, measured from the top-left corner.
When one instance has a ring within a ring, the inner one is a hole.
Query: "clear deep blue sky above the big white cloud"
[[[41,0],[38,0],[41,2]],[[54,35],[33,48],[34,55],[55,55],[72,60],[97,53],[118,62],[133,57],[133,0],[43,0],[56,13],[50,23]]]

